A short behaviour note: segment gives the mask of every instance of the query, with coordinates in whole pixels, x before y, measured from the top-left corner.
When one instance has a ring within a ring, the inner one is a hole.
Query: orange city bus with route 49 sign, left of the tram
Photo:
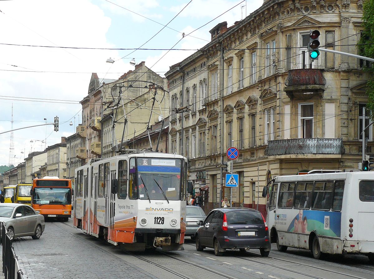
[[[45,218],[68,221],[71,217],[71,180],[45,176],[33,180],[31,206]]]

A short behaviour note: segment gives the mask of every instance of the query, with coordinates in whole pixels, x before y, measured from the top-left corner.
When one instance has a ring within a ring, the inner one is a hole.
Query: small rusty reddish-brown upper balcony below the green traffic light
[[[326,80],[321,69],[293,69],[288,71],[285,84],[283,90],[290,99],[308,100],[316,94],[322,97]]]

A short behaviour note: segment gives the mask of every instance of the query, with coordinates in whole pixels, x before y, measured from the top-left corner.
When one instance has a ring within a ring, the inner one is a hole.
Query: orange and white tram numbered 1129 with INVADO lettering
[[[187,159],[141,152],[76,168],[74,226],[125,251],[183,250]]]

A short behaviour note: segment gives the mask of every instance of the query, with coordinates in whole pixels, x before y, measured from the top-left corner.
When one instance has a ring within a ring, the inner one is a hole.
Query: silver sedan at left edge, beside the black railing
[[[10,240],[20,236],[39,239],[45,229],[44,216],[23,204],[0,204],[0,222],[5,223]]]

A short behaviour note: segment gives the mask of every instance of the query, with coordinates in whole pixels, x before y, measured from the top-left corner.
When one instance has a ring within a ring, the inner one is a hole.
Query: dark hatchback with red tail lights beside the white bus
[[[246,251],[260,249],[261,256],[270,252],[270,236],[264,217],[252,208],[217,208],[205,218],[196,232],[196,250],[214,248],[216,256],[226,249]]]

